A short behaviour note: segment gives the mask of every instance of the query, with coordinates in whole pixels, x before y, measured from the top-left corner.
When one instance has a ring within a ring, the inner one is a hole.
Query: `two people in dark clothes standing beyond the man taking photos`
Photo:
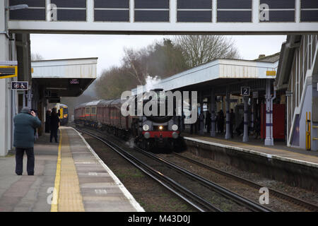
[[[60,124],[60,113],[57,112],[56,108],[47,109],[46,112],[46,121],[45,121],[45,133],[50,133],[49,142],[52,143],[52,138],[54,137],[55,142],[57,143],[57,131]]]

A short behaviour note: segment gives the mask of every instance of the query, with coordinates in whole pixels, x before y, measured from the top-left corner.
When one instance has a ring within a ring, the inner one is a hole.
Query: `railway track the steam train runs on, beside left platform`
[[[179,198],[182,198],[184,201],[189,203],[189,205],[193,206],[197,210],[203,211],[203,212],[204,211],[218,211],[218,212],[223,211],[214,203],[211,203],[211,201],[208,201],[203,196],[196,194],[196,192],[191,191],[191,189],[188,189],[186,186],[183,186],[182,184],[178,183],[175,179],[172,179],[170,175],[164,174],[158,169],[151,167],[151,165],[148,165],[145,161],[141,160],[141,158],[137,158],[134,155],[131,155],[131,153],[129,153],[127,150],[124,150],[124,148],[120,147],[119,145],[113,143],[112,141],[107,140],[107,138],[98,136],[97,134],[89,132],[89,131],[83,131],[81,129],[77,129],[77,130],[82,133],[86,133],[89,136],[93,136],[99,141],[102,141],[102,143],[105,143],[112,150],[114,150],[119,155],[124,157],[124,159],[131,162],[131,164],[133,164],[135,167],[140,169],[142,172],[148,174],[149,177],[155,179],[155,181],[165,186],[167,189],[172,191],[172,193],[179,196]],[[189,172],[187,169],[178,167],[172,162],[168,162],[167,160],[164,160],[161,157],[158,157],[152,153],[148,153],[144,150],[141,150],[140,148],[135,148],[135,150],[137,150],[139,153],[142,153],[143,156],[147,156],[148,158],[151,158],[155,160],[156,162],[160,162],[162,165],[165,165],[166,167],[169,167],[170,169],[174,169],[176,172],[179,172],[179,174],[184,175],[185,177],[187,177],[188,179],[191,179],[192,181],[195,181],[196,184],[199,183],[207,187],[208,189],[211,189],[213,192],[215,192],[219,196],[222,196],[223,198],[228,198],[230,201],[236,203],[237,205],[244,206],[245,209],[247,210],[260,211],[260,212],[271,211],[271,209],[269,208],[261,206],[258,203],[254,203],[253,201],[250,201],[247,198],[244,198],[238,194],[235,194],[232,191],[229,191],[228,189],[223,188],[222,186],[219,186],[218,184],[210,182],[204,179],[203,177],[200,177],[197,174]]]

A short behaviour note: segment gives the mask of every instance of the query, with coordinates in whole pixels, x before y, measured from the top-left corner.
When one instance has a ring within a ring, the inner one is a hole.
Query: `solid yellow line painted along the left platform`
[[[57,172],[55,173],[55,182],[53,190],[53,199],[51,204],[51,212],[58,212],[59,205],[59,183],[61,181],[61,129],[59,130],[59,152],[57,154]]]

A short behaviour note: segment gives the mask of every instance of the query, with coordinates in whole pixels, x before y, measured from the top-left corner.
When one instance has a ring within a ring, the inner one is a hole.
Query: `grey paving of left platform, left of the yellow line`
[[[49,189],[54,187],[58,144],[48,141],[47,135],[36,141],[34,176],[28,176],[26,172],[26,155],[22,176],[16,175],[14,152],[0,157],[0,212],[51,210],[47,198],[52,194]]]

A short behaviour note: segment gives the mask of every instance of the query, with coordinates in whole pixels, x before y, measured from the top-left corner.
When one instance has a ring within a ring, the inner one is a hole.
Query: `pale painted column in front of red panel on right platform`
[[[265,145],[273,145],[273,134],[271,133],[271,114],[273,114],[273,105],[271,105],[271,81],[266,81],[266,138]]]

